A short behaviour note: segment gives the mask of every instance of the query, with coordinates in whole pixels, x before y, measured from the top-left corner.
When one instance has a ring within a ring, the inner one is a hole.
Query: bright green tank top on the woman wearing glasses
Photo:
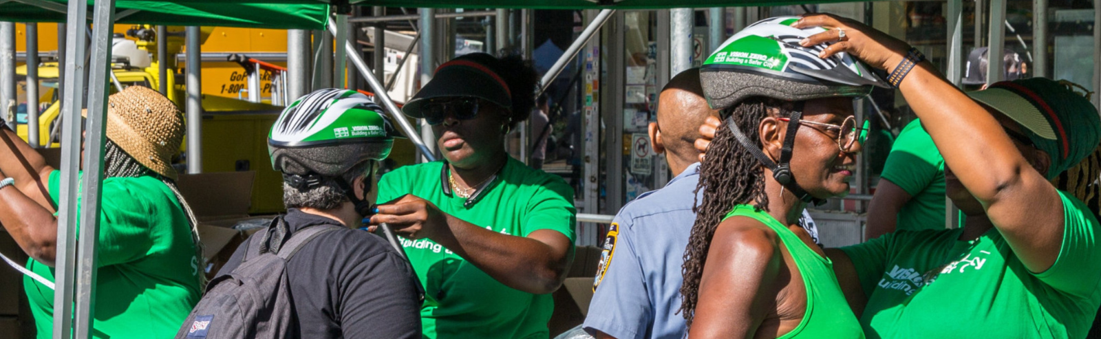
[[[841,286],[833,275],[833,263],[818,255],[798,236],[764,211],[750,205],[738,205],[724,218],[742,216],[768,226],[792,253],[795,266],[803,275],[807,289],[807,311],[799,326],[777,339],[788,338],[864,338],[860,321],[849,308]]]

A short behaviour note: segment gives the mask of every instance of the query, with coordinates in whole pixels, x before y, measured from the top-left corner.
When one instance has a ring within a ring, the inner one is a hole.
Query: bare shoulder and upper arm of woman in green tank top
[[[753,338],[775,309],[781,252],[776,234],[744,227],[744,218],[719,225],[707,252],[688,338]]]

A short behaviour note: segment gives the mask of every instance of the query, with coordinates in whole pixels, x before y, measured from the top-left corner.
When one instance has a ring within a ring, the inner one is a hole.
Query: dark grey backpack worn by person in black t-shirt
[[[317,225],[291,234],[282,217],[252,236],[241,264],[215,277],[187,316],[176,339],[287,338],[293,336],[293,305],[286,263],[317,236],[341,229]]]

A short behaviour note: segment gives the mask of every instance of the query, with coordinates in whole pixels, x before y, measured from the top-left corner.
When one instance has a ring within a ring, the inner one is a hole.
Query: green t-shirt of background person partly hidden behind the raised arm
[[[945,229],[945,158],[920,120],[898,133],[880,177],[912,197],[898,211],[896,231]]]

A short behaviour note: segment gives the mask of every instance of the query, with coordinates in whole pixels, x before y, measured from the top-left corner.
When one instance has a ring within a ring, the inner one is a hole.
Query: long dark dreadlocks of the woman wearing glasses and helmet
[[[754,97],[745,99],[723,111],[722,117],[733,117],[734,123],[750,140],[760,140],[757,133],[761,120],[766,117],[789,117],[792,102],[772,98]],[[719,222],[735,205],[753,204],[757,210],[767,210],[768,197],[764,192],[764,166],[745,147],[738,143],[734,134],[726,127],[727,121],[715,131],[715,139],[707,150],[707,157],[699,166],[699,184],[696,186],[697,200],[694,211],[696,222],[685,250],[680,286],[683,302],[679,313],[688,326],[695,318],[699,298],[700,276],[711,247],[711,238]],[[760,144],[757,146],[761,146]],[[702,192],[702,201],[699,200]]]

